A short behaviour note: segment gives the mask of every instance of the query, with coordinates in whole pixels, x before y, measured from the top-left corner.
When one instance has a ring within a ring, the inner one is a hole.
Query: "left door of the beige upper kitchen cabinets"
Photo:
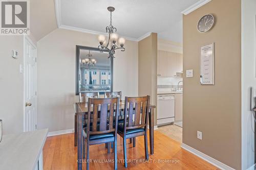
[[[167,52],[158,51],[158,76],[167,77]]]

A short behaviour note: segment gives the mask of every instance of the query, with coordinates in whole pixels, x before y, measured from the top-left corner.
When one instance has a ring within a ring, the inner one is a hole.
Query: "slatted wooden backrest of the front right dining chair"
[[[134,112],[135,105],[135,112]],[[144,127],[147,128],[147,117],[150,108],[150,96],[143,96],[138,98],[125,97],[124,102],[124,117],[129,116],[126,120],[124,119],[123,129],[124,133],[126,130],[137,129]]]

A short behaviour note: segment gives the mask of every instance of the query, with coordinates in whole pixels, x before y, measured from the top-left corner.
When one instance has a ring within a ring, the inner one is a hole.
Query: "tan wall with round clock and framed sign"
[[[211,13],[216,24],[197,31],[201,16]],[[215,42],[215,85],[200,85],[200,45]],[[241,169],[241,1],[212,0],[183,15],[183,143]],[[197,139],[202,132],[202,140]]]

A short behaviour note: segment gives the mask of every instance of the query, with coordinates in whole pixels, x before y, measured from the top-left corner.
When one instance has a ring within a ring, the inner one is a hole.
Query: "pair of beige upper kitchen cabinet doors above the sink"
[[[183,70],[182,54],[158,51],[158,74],[159,77],[176,77],[176,72]]]

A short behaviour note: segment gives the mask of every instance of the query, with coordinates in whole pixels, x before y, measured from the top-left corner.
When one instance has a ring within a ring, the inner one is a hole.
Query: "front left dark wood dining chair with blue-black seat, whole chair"
[[[117,119],[113,126],[114,117],[119,113],[116,110],[119,110],[119,98],[89,98],[87,128],[83,129],[83,154],[87,155],[87,169],[90,159],[89,146],[110,142],[114,142],[114,167],[117,169]]]

